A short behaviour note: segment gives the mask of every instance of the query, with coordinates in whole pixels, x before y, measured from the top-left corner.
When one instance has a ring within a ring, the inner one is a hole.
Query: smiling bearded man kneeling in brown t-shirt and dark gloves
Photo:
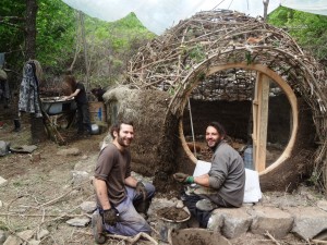
[[[94,186],[98,209],[92,225],[96,243],[102,244],[102,232],[133,236],[150,233],[146,211],[155,187],[131,176],[131,155],[128,147],[134,138],[133,123],[123,121],[111,126],[113,142],[101,151],[95,170]]]

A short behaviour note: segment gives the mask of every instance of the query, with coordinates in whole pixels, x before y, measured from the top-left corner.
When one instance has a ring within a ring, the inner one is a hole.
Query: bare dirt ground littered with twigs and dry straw
[[[11,145],[29,145],[31,134],[28,122],[22,122],[21,132],[12,132],[11,120],[0,118],[0,140],[10,142]],[[62,135],[68,139],[66,145],[59,146],[51,140],[40,143],[32,154],[9,154],[0,157],[0,176],[8,180],[8,184],[0,187],[0,230],[8,233],[19,233],[25,230],[33,230],[35,233],[41,229],[50,232],[41,240],[40,244],[47,245],[89,245],[95,244],[90,235],[90,224],[85,228],[71,226],[66,220],[86,215],[80,205],[83,201],[94,200],[94,192],[89,181],[73,185],[71,171],[80,161],[88,161],[93,166],[96,161],[100,144],[105,134],[92,135],[90,137],[75,137],[75,130],[65,130]],[[58,156],[57,152],[66,148],[78,148],[77,156]],[[312,191],[306,191],[308,195]],[[303,192],[302,192],[303,193]],[[282,201],[283,193],[265,194],[264,201]],[[290,196],[291,198],[292,196]],[[162,198],[169,194],[158,194],[153,206],[160,208]],[[290,200],[286,198],[284,201]],[[291,198],[292,205],[303,203],[303,196],[294,195]],[[153,207],[154,209],[154,207]],[[155,212],[149,213],[149,223],[153,226],[153,237],[160,238],[158,231],[158,219]],[[231,241],[232,244],[276,244],[271,240],[245,234]],[[305,244],[293,236],[279,244]],[[109,238],[106,244],[129,244],[121,240]],[[134,244],[152,244],[146,240]],[[159,244],[167,244],[160,242]]]

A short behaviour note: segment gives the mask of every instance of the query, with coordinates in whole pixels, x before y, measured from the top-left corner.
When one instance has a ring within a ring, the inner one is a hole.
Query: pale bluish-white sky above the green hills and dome
[[[134,12],[150,32],[161,35],[179,21],[204,10],[229,9],[253,17],[264,15],[263,0],[63,0],[85,14],[102,21],[117,21]],[[269,0],[268,13],[280,4]]]

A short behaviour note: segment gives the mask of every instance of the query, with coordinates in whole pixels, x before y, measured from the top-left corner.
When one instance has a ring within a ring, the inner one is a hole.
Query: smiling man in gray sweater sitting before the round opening
[[[183,194],[182,199],[199,225],[206,228],[215,207],[241,207],[244,197],[245,170],[239,155],[223,139],[226,131],[218,122],[206,128],[206,142],[214,151],[210,171],[199,176],[175,173],[173,177],[182,183],[196,183],[202,192]]]

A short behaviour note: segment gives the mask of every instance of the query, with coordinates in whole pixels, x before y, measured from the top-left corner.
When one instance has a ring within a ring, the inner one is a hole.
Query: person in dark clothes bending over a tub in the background
[[[64,99],[70,99],[74,97],[77,105],[77,134],[86,133],[87,135],[90,135],[92,126],[85,87],[81,82],[76,82],[73,75],[66,75],[64,77],[64,82],[73,91],[71,95],[64,96]]]

